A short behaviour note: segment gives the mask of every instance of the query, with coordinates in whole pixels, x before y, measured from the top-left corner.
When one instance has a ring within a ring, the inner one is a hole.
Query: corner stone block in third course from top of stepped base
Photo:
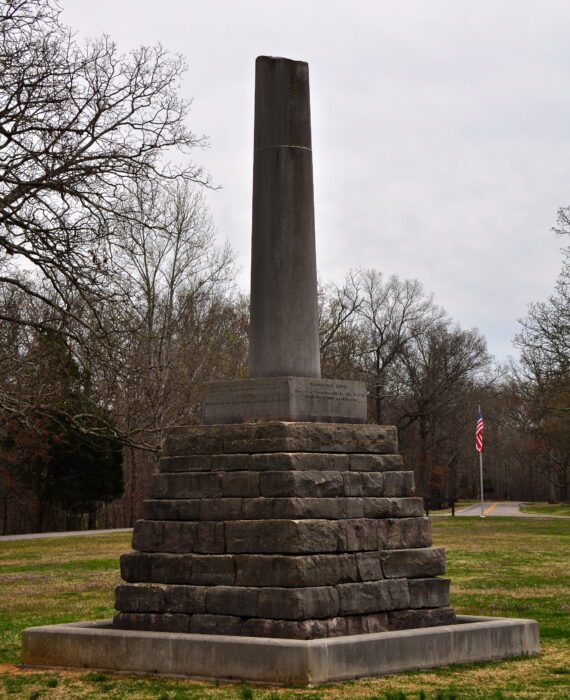
[[[266,472],[260,475],[260,491],[265,497],[300,496],[332,498],[345,495],[343,474],[339,472]]]

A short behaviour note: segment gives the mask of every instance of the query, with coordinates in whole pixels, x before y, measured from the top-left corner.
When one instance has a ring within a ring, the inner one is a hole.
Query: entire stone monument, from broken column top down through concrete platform
[[[250,378],[168,435],[112,623],[27,630],[25,662],[317,683],[536,653],[532,621],[456,617],[396,429],[320,377],[307,64],[258,58],[255,95]]]

